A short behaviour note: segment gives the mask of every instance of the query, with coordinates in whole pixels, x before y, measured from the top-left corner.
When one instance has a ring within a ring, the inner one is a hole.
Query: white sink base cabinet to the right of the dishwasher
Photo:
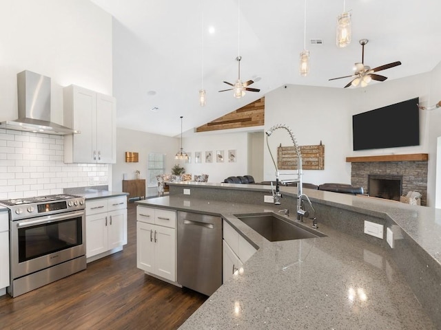
[[[236,271],[240,271],[243,263],[256,252],[256,248],[251,245],[243,236],[231,226],[227,221],[223,221],[223,283],[233,276]]]

